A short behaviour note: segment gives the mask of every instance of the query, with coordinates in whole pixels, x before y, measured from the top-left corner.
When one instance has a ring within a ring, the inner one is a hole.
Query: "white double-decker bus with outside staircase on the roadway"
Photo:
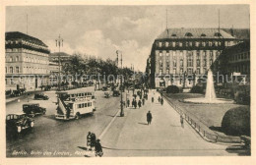
[[[82,115],[93,115],[96,111],[94,87],[57,91],[56,94],[58,99],[56,119],[79,119]]]

